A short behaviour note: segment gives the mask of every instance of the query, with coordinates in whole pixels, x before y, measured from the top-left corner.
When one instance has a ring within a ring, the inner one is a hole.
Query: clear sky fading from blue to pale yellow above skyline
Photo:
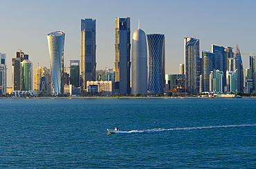
[[[29,54],[33,72],[50,68],[47,34],[66,33],[64,64],[80,60],[81,19],[96,19],[97,70],[114,68],[115,17],[131,18],[131,38],[140,28],[146,34],[165,34],[165,73],[178,74],[183,63],[184,37],[200,40],[200,50],[211,44],[238,44],[244,68],[248,54],[256,50],[255,0],[0,0],[0,52],[6,53],[8,86],[12,57],[21,49]]]

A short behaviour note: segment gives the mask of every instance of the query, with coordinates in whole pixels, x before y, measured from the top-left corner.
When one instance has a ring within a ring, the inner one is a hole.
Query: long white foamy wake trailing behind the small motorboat
[[[248,126],[256,126],[256,123],[253,124],[241,124],[241,125],[223,125],[223,126],[201,126],[201,127],[192,127],[192,128],[154,128],[147,130],[130,130],[130,131],[122,131],[122,133],[134,133],[134,132],[163,132],[170,130],[200,130],[200,129],[209,129],[209,128],[239,128],[239,127],[248,127]]]

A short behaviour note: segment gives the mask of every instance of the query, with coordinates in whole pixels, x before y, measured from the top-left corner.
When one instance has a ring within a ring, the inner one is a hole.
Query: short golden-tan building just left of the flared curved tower
[[[35,69],[34,90],[36,90],[39,95],[49,96],[53,94],[51,81],[50,69],[46,67],[38,67]]]

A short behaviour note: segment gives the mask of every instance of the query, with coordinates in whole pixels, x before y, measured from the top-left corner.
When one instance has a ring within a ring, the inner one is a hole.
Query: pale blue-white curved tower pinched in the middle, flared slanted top
[[[64,39],[65,32],[62,30],[47,34],[50,54],[50,70],[52,75],[53,95],[63,94],[64,81]]]

